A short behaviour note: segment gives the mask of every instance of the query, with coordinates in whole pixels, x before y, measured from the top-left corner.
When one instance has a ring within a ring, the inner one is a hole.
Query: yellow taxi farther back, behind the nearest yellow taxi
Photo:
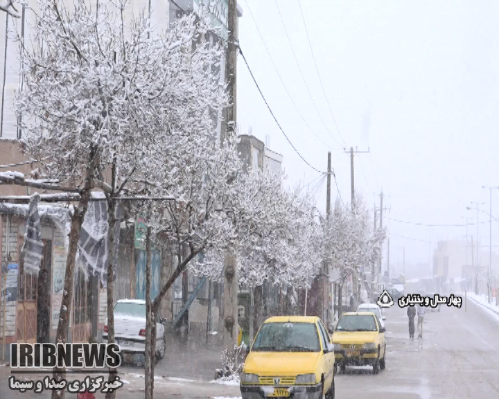
[[[346,366],[372,366],[373,374],[385,369],[385,328],[374,313],[343,313],[333,332],[333,344],[341,373]]]

